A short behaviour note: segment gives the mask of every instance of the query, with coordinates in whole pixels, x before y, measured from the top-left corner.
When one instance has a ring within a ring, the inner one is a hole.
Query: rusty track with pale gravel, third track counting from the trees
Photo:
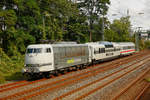
[[[124,68],[124,69],[121,69],[121,70],[119,70],[119,71],[117,71],[117,72],[114,72],[114,73],[112,73],[112,74],[110,74],[110,75],[108,75],[108,76],[105,76],[105,77],[103,77],[103,78],[97,79],[96,81],[93,81],[93,82],[91,82],[91,83],[89,83],[89,84],[86,84],[86,85],[84,85],[84,86],[82,86],[82,87],[79,87],[79,88],[77,88],[77,89],[75,89],[75,90],[73,90],[73,91],[70,91],[70,92],[68,92],[68,93],[65,93],[65,94],[61,95],[60,97],[55,98],[54,100],[61,100],[62,98],[63,98],[64,100],[69,100],[69,99],[75,98],[75,97],[78,97],[78,98],[76,98],[75,100],[83,99],[83,98],[85,98],[86,96],[88,96],[88,95],[90,95],[90,94],[92,94],[92,93],[94,93],[94,92],[100,90],[101,88],[104,88],[105,86],[111,84],[112,82],[118,80],[119,78],[122,78],[124,75],[128,74],[129,72],[132,72],[132,71],[138,69],[141,65],[142,65],[142,64],[140,64],[140,65],[134,67],[133,69],[131,69],[131,70],[129,70],[129,71],[126,71],[125,73],[123,73],[123,74],[121,74],[121,75],[119,75],[119,76],[116,75],[117,73],[119,73],[119,72],[121,72],[121,71],[123,71],[123,70],[125,70],[125,69],[127,69],[127,68],[129,68],[129,67],[131,67],[131,66],[128,66],[128,67],[126,67],[126,68]],[[147,71],[146,71],[146,72],[147,72]],[[115,76],[113,76],[113,75],[116,75],[117,77],[113,79],[113,77],[115,77]],[[106,78],[108,78],[108,77],[110,77],[110,76],[113,76],[113,77],[112,77],[112,79],[109,80],[108,82],[104,82],[104,84],[102,84],[102,83],[100,82],[100,81],[105,80]],[[101,84],[101,85],[94,86],[95,84]],[[84,93],[84,92],[87,91],[87,89],[85,89],[85,88],[88,88],[88,87],[89,87],[88,90],[90,90],[90,91],[87,92],[87,93]],[[91,89],[91,88],[93,88],[93,87],[97,87],[97,88]],[[84,89],[85,89],[85,90],[84,90]],[[82,90],[82,91],[81,91],[81,90]],[[75,94],[75,93],[76,93],[76,94]],[[84,93],[84,94],[83,94],[83,93]],[[83,95],[81,95],[81,94],[83,94]],[[68,96],[68,97],[67,97],[67,96]],[[116,99],[114,99],[114,100],[116,100]],[[127,100],[127,99],[126,99],[126,100]]]

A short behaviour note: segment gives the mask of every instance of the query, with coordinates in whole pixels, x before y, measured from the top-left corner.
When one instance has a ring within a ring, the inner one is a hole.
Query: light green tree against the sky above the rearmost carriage
[[[114,20],[112,24],[110,24],[109,29],[105,31],[105,37],[107,41],[118,41],[118,42],[125,42],[131,41],[132,38],[130,37],[130,20],[129,16],[122,17],[120,20]],[[112,38],[110,38],[110,36]]]

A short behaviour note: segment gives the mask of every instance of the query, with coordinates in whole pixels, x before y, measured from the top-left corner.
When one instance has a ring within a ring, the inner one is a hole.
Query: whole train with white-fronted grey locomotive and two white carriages
[[[105,60],[131,55],[132,42],[91,42],[86,44],[35,44],[29,45],[22,73],[28,78],[48,77],[70,68],[83,68]]]

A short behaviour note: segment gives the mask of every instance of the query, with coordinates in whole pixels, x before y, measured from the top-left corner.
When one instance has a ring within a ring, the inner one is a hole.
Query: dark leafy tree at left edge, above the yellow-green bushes
[[[2,23],[0,37],[2,39],[2,48],[9,56],[16,55],[18,51],[24,52],[25,43],[33,41],[32,36],[28,33],[29,30],[27,30],[32,25],[30,27],[27,27],[27,25],[24,26],[23,22],[25,21],[21,20],[24,18],[21,11],[24,9],[24,6],[21,6],[21,3],[23,4],[23,0],[20,2],[17,0],[4,0],[0,3],[0,18]]]

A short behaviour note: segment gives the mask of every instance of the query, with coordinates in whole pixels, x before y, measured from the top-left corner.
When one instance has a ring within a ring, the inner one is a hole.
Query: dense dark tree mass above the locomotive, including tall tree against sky
[[[41,39],[84,43],[89,41],[89,30],[94,41],[100,40],[101,27],[95,22],[106,14],[110,1],[90,1],[74,4],[69,0],[2,0],[0,47],[8,56],[15,56]],[[88,14],[81,11],[83,8]],[[94,23],[95,28],[87,21]]]

